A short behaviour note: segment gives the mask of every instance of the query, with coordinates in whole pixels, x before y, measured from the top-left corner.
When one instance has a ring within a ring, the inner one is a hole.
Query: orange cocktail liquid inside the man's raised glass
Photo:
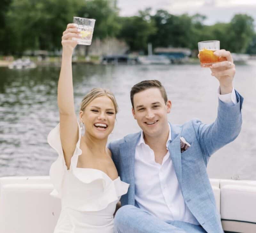
[[[213,53],[217,49],[203,49],[199,51],[199,58],[202,67],[210,67],[213,63],[227,61],[226,57],[216,56]]]

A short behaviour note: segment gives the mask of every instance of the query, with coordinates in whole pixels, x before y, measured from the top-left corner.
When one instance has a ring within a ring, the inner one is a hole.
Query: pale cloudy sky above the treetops
[[[151,13],[163,9],[174,15],[200,13],[207,16],[206,25],[230,22],[235,14],[248,14],[256,24],[256,0],[117,0],[121,16],[136,15],[139,10],[151,7]]]

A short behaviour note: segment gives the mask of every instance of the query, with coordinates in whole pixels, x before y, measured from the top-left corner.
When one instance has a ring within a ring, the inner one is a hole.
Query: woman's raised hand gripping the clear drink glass
[[[73,50],[75,49],[76,45],[78,44],[77,41],[73,41],[72,38],[81,38],[81,34],[79,33],[75,24],[68,24],[66,30],[63,32],[62,35],[62,48],[63,53],[72,54]]]

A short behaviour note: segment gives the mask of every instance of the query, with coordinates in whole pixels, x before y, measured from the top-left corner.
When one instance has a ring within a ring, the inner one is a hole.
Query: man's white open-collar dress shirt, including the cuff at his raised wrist
[[[219,99],[229,106],[237,103],[235,90],[229,94],[220,95]],[[169,125],[169,124],[168,124]],[[172,141],[171,127],[166,142],[167,154],[162,164],[155,162],[154,151],[145,144],[144,134],[135,149],[135,203],[149,214],[163,221],[178,220],[199,225],[194,215],[188,209],[182,196],[180,185],[172,165],[168,146]]]

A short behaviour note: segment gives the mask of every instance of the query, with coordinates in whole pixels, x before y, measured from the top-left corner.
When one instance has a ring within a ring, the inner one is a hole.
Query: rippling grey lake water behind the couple
[[[60,67],[9,70],[0,67],[0,177],[48,175],[57,153],[47,135],[59,122],[57,84]],[[236,66],[234,86],[244,97],[243,126],[236,140],[212,155],[210,178],[256,180],[256,63]],[[218,80],[200,65],[73,65],[76,113],[92,87],[114,92],[119,104],[109,140],[140,128],[132,117],[129,92],[144,79],[165,86],[173,124],[193,117],[212,123],[217,116]]]

